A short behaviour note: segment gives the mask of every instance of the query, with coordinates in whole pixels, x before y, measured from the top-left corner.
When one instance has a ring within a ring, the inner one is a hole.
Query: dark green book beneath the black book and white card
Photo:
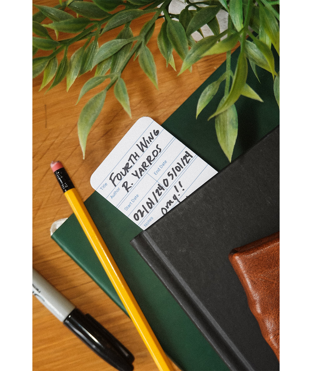
[[[232,54],[232,63],[237,61],[238,55],[239,49]],[[224,62],[162,124],[217,171],[229,162],[218,144],[214,119],[207,122],[207,118],[213,114],[220,102],[224,82],[197,119],[196,106],[204,88],[216,81],[225,69]],[[275,69],[278,71],[279,66]],[[259,69],[258,77],[260,82],[250,68],[247,83],[259,93],[265,104],[243,96],[236,102],[239,132],[233,160],[279,124],[279,108],[273,94],[272,75]],[[96,191],[85,201],[85,205],[168,356],[185,371],[228,370],[191,319],[130,245],[129,242],[142,231],[141,228]],[[73,214],[52,234],[52,238],[125,311]]]

